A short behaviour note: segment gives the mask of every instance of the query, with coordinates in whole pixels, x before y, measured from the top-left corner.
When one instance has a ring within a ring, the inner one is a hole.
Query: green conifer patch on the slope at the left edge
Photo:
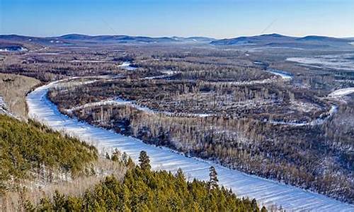
[[[0,114],[0,192],[21,187],[23,180],[44,177],[47,182],[62,176],[91,172],[98,158],[94,146],[29,120],[28,123]]]

